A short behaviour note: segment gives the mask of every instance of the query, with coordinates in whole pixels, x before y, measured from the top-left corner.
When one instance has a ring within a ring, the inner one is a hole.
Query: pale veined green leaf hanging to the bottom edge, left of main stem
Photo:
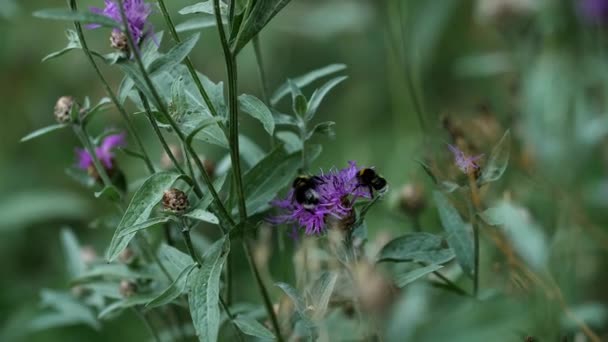
[[[203,258],[201,268],[188,279],[188,296],[192,322],[200,341],[217,341],[220,330],[220,277],[230,251],[230,239],[225,236],[214,243]]]

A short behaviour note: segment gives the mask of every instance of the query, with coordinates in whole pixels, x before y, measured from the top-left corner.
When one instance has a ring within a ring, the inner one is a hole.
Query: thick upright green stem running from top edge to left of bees
[[[220,13],[219,0],[213,0],[213,8],[215,12],[215,21],[224,51],[224,59],[226,61],[226,71],[228,73],[228,103],[229,103],[229,130],[230,130],[230,160],[232,162],[232,170],[234,176],[234,184],[238,199],[239,215],[241,222],[247,220],[247,206],[245,205],[245,194],[243,192],[243,180],[241,178],[241,160],[239,152],[239,108],[237,100],[237,67],[236,58],[226,38],[224,25],[222,24],[222,15]]]

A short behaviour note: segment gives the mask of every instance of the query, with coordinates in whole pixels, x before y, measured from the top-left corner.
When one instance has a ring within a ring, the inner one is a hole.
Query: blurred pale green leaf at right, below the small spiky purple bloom
[[[501,226],[517,254],[534,268],[543,269],[549,258],[549,247],[543,228],[530,218],[525,208],[500,201],[479,216],[491,226]]]

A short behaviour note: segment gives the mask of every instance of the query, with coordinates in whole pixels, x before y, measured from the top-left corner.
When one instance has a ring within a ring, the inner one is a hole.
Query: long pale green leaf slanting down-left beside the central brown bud
[[[152,208],[163,198],[164,191],[170,188],[180,177],[180,174],[175,172],[156,173],[150,176],[137,190],[114,232],[110,247],[106,251],[108,261],[116,259],[118,254],[135,236],[135,233],[121,236],[122,231],[147,220]]]

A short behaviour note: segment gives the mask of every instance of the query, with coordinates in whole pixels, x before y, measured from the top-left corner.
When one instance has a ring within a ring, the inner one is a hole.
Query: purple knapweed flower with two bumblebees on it
[[[294,190],[291,189],[286,198],[272,202],[283,214],[272,217],[270,222],[292,224],[292,235],[297,235],[294,234],[297,228],[303,228],[307,235],[325,233],[328,219],[346,219],[353,215],[353,204],[358,198],[372,197],[369,189],[359,184],[358,172],[357,164],[349,162],[347,168],[332,169],[327,174],[317,176],[315,192],[318,195],[318,203],[312,208],[298,203]]]

